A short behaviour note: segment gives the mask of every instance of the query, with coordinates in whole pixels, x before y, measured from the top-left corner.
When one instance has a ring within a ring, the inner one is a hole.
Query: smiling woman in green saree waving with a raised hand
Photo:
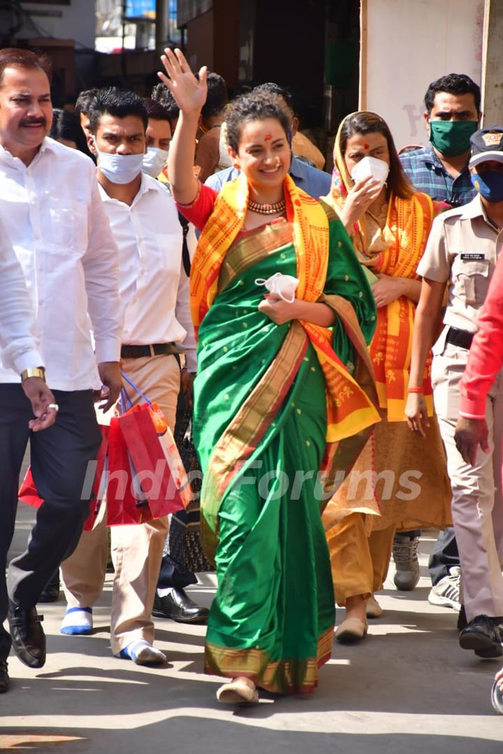
[[[180,108],[171,188],[201,229],[194,437],[201,534],[218,581],[205,670],[231,679],[222,702],[256,701],[256,687],[313,691],[334,624],[322,488],[379,418],[366,346],[376,310],[342,223],[288,175],[278,100],[232,104],[228,143],[241,175],[216,195],[192,171],[206,69],[196,80],[181,52],[162,60]]]

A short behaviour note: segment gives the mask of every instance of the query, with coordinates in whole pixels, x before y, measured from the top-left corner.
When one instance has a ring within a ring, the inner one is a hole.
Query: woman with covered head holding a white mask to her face
[[[433,416],[430,363],[423,382],[432,417],[426,443],[407,433],[404,413],[421,287],[416,267],[431,222],[446,205],[413,191],[388,125],[376,113],[354,112],[342,121],[334,164],[326,201],[351,236],[378,311],[370,357],[382,421],[354,466],[354,474],[369,483],[346,481],[324,511],[336,602],[346,608],[336,638],[355,641],[366,635],[367,617],[382,613],[373,593],[386,578],[395,530],[443,529],[450,523],[451,495]],[[369,474],[380,475],[379,482],[373,484]]]

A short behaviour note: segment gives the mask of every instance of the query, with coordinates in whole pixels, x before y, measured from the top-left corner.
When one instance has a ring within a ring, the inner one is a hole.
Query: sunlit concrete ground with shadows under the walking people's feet
[[[13,552],[23,547],[31,520],[32,511],[21,507]],[[420,545],[419,587],[397,592],[390,572],[379,596],[385,614],[360,645],[334,646],[314,694],[264,695],[247,709],[216,702],[219,679],[203,673],[204,627],[157,619],[156,645],[168,661],[161,670],[112,657],[110,577],[92,636],[61,636],[63,601],[44,605],[48,661],[33,671],[10,658],[0,751],[502,754],[503,716],[489,701],[501,663],[462,651],[454,612],[428,604],[432,544],[425,537]],[[210,605],[213,590],[213,577],[203,574],[190,593]]]

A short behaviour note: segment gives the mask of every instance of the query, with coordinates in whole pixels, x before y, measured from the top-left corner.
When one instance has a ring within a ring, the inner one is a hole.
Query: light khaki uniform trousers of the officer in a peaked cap
[[[431,382],[440,434],[446,448],[452,486],[452,522],[462,570],[462,604],[466,617],[503,615],[503,375],[500,372],[486,401],[489,454],[479,449],[474,467],[465,464],[455,447],[459,417],[459,381],[468,351],[446,344],[434,357]]]

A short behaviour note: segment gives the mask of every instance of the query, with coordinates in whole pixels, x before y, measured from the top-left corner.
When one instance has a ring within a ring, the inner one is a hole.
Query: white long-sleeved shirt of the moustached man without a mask
[[[48,137],[28,166],[0,146],[0,221],[23,268],[48,384],[100,388],[97,362],[118,361],[123,312],[93,162]],[[0,369],[0,382],[18,380]]]

